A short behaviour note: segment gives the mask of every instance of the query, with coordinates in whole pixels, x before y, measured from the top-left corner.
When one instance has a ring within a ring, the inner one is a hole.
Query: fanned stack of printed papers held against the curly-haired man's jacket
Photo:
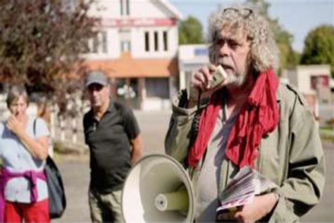
[[[252,203],[255,195],[276,187],[275,183],[261,176],[258,171],[243,167],[221,194],[221,206],[217,212]]]

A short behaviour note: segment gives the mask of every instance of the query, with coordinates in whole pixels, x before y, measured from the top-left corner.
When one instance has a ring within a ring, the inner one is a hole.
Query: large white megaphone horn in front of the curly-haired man
[[[128,175],[122,193],[125,222],[193,222],[194,191],[181,164],[147,155]]]

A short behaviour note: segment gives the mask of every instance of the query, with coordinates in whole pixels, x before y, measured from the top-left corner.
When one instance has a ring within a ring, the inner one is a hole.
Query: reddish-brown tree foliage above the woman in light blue
[[[92,1],[0,1],[1,83],[25,84],[65,100],[63,95],[75,83],[67,77],[82,76],[80,55],[97,35],[99,20],[87,16],[91,5]]]

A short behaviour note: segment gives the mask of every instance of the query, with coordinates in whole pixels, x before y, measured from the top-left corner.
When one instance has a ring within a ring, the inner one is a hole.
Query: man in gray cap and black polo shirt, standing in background
[[[120,195],[128,171],[142,155],[140,129],[131,109],[111,101],[104,73],[89,73],[85,88],[91,104],[83,125],[90,150],[92,222],[122,222]]]

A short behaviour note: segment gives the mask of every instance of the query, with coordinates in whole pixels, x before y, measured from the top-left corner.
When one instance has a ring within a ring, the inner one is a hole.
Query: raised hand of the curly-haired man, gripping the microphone
[[[192,74],[192,79],[190,81],[190,99],[188,108],[194,107],[197,104],[199,92],[201,93],[200,100],[202,100],[206,97],[210,97],[214,91],[223,86],[225,81],[215,86],[210,84],[216,70],[216,66],[209,64],[208,66],[199,68],[198,71]]]

